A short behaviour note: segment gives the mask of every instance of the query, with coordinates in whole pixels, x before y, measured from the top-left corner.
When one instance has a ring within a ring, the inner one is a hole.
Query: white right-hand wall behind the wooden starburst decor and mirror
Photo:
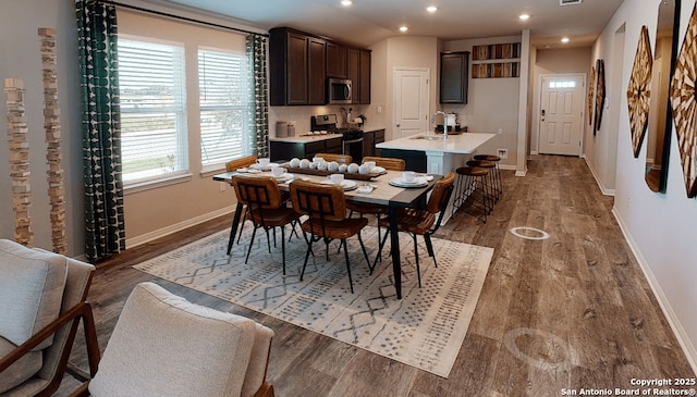
[[[651,47],[655,45],[658,2],[653,3],[655,7],[646,7],[645,0],[625,0],[594,46],[594,55],[606,60],[608,87],[611,87],[608,94],[610,109],[606,109],[610,117],[606,120],[610,122],[606,124],[603,121],[596,137],[587,137],[594,150],[587,161],[597,171],[597,177],[606,177],[604,170],[611,169],[616,161],[615,216],[693,368],[697,368],[697,290],[694,288],[697,278],[697,201],[688,199],[685,194],[674,127],[665,194],[649,190],[644,182],[646,141],[636,159],[631,142],[626,87],[643,25],[648,27]],[[678,48],[694,4],[694,1],[682,4]],[[617,42],[619,37],[625,38],[624,46]],[[623,51],[613,53],[617,48],[623,48]],[[621,80],[610,73],[617,62],[622,64]],[[612,96],[619,100],[613,101]],[[617,117],[615,132],[611,131],[613,116]]]

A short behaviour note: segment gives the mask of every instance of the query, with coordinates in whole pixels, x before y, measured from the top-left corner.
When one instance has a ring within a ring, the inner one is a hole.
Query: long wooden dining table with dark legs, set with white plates
[[[249,174],[246,172],[232,171],[213,175],[213,181],[227,182],[231,183],[235,175],[260,175],[260,176],[271,176],[270,172],[259,172]],[[282,178],[279,179],[279,188],[281,191],[288,191],[289,185],[295,178],[302,178],[304,181],[313,181],[317,183],[326,183],[328,181],[328,176],[323,175],[314,175],[314,174],[303,174],[303,173],[292,173],[293,178]],[[400,238],[398,222],[396,222],[396,211],[400,208],[406,207],[417,207],[426,203],[428,193],[433,188],[433,184],[436,181],[441,178],[441,175],[432,175],[432,179],[428,181],[426,186],[423,187],[396,187],[390,184],[390,181],[394,178],[400,178],[402,176],[402,172],[400,171],[386,171],[386,173],[371,177],[369,181],[359,181],[356,179],[357,187],[363,185],[371,185],[374,188],[369,194],[360,193],[362,190],[358,188],[347,189],[345,190],[346,200],[359,201],[359,202],[370,202],[376,204],[387,206],[389,208],[389,221],[390,221],[390,247],[391,247],[391,257],[392,257],[392,270],[394,272],[394,288],[396,293],[396,298],[402,299],[402,261],[400,257]],[[353,179],[350,179],[353,181]],[[232,221],[232,226],[230,229],[230,240],[228,243],[228,255],[230,255],[232,249],[232,244],[234,237],[237,234],[237,225],[240,224],[240,220],[242,218],[243,206],[237,201],[237,207],[235,210],[234,219]]]

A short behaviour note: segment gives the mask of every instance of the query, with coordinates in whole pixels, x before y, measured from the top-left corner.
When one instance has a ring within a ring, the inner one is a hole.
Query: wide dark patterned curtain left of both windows
[[[125,249],[117,10],[75,0],[77,16],[86,257],[96,262]]]

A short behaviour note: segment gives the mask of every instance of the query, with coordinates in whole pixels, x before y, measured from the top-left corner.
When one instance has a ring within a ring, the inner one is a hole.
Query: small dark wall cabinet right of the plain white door
[[[467,103],[469,52],[440,53],[440,102]]]

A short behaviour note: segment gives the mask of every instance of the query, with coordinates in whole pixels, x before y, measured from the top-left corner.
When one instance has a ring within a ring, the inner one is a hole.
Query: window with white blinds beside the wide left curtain
[[[184,48],[119,38],[124,184],[188,170]]]

